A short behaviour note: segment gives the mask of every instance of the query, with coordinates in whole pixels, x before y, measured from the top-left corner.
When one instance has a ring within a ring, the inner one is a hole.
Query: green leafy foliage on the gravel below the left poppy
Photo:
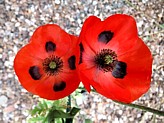
[[[40,100],[40,102],[30,111],[28,123],[64,123],[65,118],[74,118],[80,111],[79,108],[67,109],[68,98],[56,101]]]

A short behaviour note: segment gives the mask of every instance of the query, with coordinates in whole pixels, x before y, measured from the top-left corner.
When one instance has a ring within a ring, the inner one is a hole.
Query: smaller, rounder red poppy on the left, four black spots
[[[55,24],[40,26],[14,60],[22,86],[50,100],[71,94],[80,82],[76,71],[77,40]]]

